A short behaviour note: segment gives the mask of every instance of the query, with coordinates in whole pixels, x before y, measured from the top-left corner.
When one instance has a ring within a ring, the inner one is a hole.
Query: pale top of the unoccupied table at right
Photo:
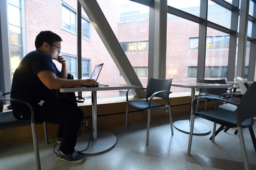
[[[208,83],[172,83],[172,86],[184,87],[184,88],[228,88],[228,87],[232,87],[231,84],[215,85],[215,84],[208,84]]]

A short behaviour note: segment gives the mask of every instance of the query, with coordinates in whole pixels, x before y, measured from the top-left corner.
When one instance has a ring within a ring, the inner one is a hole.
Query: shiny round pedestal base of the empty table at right
[[[190,133],[189,120],[176,121],[173,123],[173,125],[175,128],[181,131]],[[195,121],[193,134],[205,134],[208,132],[210,132],[210,128],[208,126],[206,126],[203,123],[199,123]]]

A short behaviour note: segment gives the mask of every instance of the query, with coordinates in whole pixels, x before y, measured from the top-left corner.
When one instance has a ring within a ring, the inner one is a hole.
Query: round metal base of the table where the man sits
[[[116,144],[116,135],[111,132],[98,130],[98,140],[91,141],[89,147],[86,151],[82,153],[100,153],[112,148]],[[87,148],[88,142],[90,140],[90,132],[82,133],[77,137],[77,142],[75,149],[77,151],[82,151]]]

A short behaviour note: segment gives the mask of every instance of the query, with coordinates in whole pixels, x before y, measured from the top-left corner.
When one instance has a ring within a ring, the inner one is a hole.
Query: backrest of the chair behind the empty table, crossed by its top
[[[226,85],[225,79],[218,79],[218,80],[206,80],[206,79],[199,79],[199,83],[207,83],[207,84],[224,84]],[[201,88],[199,94],[215,94],[221,95],[227,92],[227,88]]]

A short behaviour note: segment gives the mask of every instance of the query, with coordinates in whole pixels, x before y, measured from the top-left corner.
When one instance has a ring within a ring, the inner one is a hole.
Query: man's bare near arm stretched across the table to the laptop
[[[96,86],[97,83],[93,79],[85,80],[67,80],[63,78],[57,78],[52,70],[42,70],[37,73],[37,77],[42,81],[42,83],[49,89],[55,90],[60,88],[71,88],[79,85],[91,85]]]

